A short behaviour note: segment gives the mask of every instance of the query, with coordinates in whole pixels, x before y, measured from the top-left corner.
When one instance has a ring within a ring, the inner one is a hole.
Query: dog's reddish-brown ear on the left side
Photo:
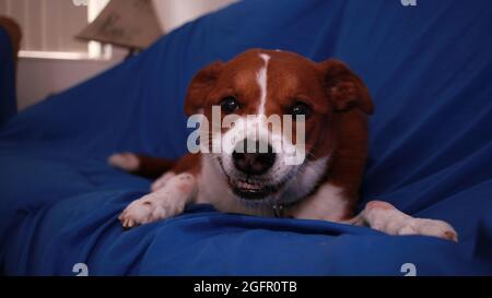
[[[191,80],[185,98],[185,114],[191,116],[203,108],[204,100],[222,73],[224,63],[216,61],[200,70]]]

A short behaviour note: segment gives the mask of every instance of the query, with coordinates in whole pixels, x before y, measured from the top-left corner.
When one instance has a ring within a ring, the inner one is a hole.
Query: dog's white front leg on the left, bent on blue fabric
[[[163,188],[132,202],[118,218],[124,228],[132,228],[178,215],[196,192],[197,182],[192,175],[177,175]]]

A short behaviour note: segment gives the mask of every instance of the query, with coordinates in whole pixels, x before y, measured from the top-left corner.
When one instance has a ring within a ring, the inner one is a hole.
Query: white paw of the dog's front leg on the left
[[[162,195],[162,194],[161,194]],[[126,229],[166,219],[185,210],[185,204],[172,198],[159,198],[155,193],[132,202],[118,219]]]

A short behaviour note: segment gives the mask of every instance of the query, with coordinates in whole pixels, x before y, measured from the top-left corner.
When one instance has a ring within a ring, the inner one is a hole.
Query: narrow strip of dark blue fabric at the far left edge
[[[13,52],[9,34],[0,27],[0,126],[17,110]]]

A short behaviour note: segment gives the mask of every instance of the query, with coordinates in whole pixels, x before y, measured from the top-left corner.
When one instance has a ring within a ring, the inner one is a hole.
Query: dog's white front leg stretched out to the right
[[[411,217],[382,201],[367,203],[364,211],[348,223],[368,226],[389,235],[425,235],[458,241],[458,234],[449,224]]]

